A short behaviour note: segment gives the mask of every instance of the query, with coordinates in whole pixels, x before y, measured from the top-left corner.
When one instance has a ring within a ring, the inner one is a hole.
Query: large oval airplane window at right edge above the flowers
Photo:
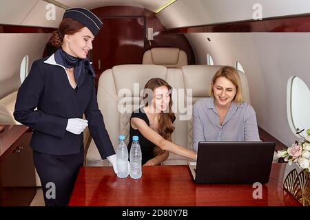
[[[287,91],[287,116],[291,131],[295,134],[297,128],[309,129],[309,87],[301,78],[292,76],[287,83]]]

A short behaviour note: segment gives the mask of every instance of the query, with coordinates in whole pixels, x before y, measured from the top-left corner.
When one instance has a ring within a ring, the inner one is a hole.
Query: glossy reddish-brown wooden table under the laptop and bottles
[[[195,184],[183,165],[143,166],[141,179],[120,179],[112,167],[83,167],[69,206],[300,206],[282,190],[286,165],[272,165],[262,199],[253,198],[252,185]]]

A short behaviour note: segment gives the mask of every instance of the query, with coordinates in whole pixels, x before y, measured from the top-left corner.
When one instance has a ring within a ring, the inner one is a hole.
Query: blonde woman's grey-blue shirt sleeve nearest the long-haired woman
[[[198,151],[198,143],[205,141],[205,135],[203,134],[203,123],[200,120],[198,102],[193,107],[193,149]]]

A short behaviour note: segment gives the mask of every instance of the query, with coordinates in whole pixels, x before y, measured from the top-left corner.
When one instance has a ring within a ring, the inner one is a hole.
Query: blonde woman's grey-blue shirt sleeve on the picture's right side
[[[250,105],[245,113],[245,141],[260,141],[256,122],[256,113]]]

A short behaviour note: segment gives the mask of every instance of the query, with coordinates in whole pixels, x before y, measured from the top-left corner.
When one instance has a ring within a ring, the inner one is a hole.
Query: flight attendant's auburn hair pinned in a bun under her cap
[[[58,30],[52,32],[52,36],[50,37],[48,43],[52,44],[54,47],[61,47],[63,44],[63,36],[65,36],[65,34],[74,34],[79,32],[79,30],[84,27],[85,25],[74,19],[63,19],[63,21],[59,24]]]

